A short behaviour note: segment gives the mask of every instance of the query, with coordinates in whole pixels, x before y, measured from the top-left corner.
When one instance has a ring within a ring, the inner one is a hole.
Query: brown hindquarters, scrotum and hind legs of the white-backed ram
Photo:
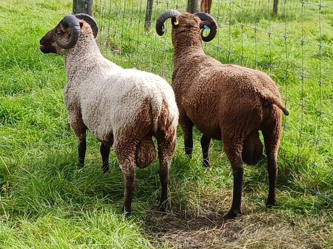
[[[171,166],[172,155],[176,147],[175,120],[169,113],[165,100],[157,121],[157,130],[153,128],[154,114],[149,99],[143,101],[140,113],[133,125],[124,127],[121,133],[115,134],[114,152],[121,165],[125,180],[125,194],[123,210],[131,213],[131,203],[135,185],[135,165],[139,168],[148,167],[156,157],[156,148],[152,140],[154,135],[158,143],[160,161],[161,199],[160,209],[165,211],[167,205],[168,171]],[[177,122],[176,122],[177,123]]]

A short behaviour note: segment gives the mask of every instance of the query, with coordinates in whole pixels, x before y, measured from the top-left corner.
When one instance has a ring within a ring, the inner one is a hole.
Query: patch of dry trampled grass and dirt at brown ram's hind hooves
[[[286,219],[277,213],[242,215],[224,221],[214,212],[191,215],[185,212],[163,215],[152,211],[144,218],[146,231],[169,248],[285,248],[325,247],[332,224],[325,217]],[[325,247],[326,248],[326,247]]]

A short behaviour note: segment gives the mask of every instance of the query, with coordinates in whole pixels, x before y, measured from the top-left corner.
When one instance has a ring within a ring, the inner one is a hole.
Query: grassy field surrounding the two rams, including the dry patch
[[[171,83],[169,30],[159,37],[153,22],[151,31],[144,31],[146,1],[129,0],[126,6],[124,1],[110,2],[94,1],[102,53],[124,67],[163,75]],[[321,2],[319,26],[318,6],[304,4],[302,15],[300,3],[280,2],[277,16],[268,11],[266,1],[232,1],[231,16],[229,1],[216,0],[212,7],[219,29],[217,37],[204,44],[206,53],[222,63],[269,73],[290,112],[283,118],[279,207],[264,205],[264,157],[256,166],[245,166],[243,215],[223,222],[232,200],[232,173],[222,143],[212,142],[212,169],[205,169],[200,133],[194,132],[189,160],[180,129],[170,169],[168,214],[156,211],[160,183],[155,160],[149,168],[137,169],[133,217],[125,219],[124,181],[114,153],[110,173],[103,174],[99,143],[89,134],[86,167],[77,169],[76,139],[62,97],[63,59],[42,54],[38,47],[41,37],[71,13],[71,1],[2,1],[0,248],[332,248],[332,203],[307,187],[333,199],[333,6]],[[169,3],[154,2],[154,20],[176,5],[185,10],[186,1]],[[320,42],[319,50],[315,44]]]

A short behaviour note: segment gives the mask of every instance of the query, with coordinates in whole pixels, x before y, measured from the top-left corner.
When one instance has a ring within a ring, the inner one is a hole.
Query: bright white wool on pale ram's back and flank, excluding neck
[[[121,67],[104,71],[94,81],[87,80],[80,92],[83,121],[102,141],[115,130],[133,126],[140,115],[156,122],[163,101],[171,106],[174,103],[172,89],[163,78]]]

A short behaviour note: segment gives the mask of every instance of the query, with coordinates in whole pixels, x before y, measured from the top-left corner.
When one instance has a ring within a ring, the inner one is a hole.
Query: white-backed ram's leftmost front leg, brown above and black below
[[[86,156],[86,136],[87,136],[87,127],[83,122],[78,121],[71,124],[72,129],[75,133],[76,140],[78,143],[78,154],[79,154],[79,167],[82,168],[84,166],[84,159]]]

